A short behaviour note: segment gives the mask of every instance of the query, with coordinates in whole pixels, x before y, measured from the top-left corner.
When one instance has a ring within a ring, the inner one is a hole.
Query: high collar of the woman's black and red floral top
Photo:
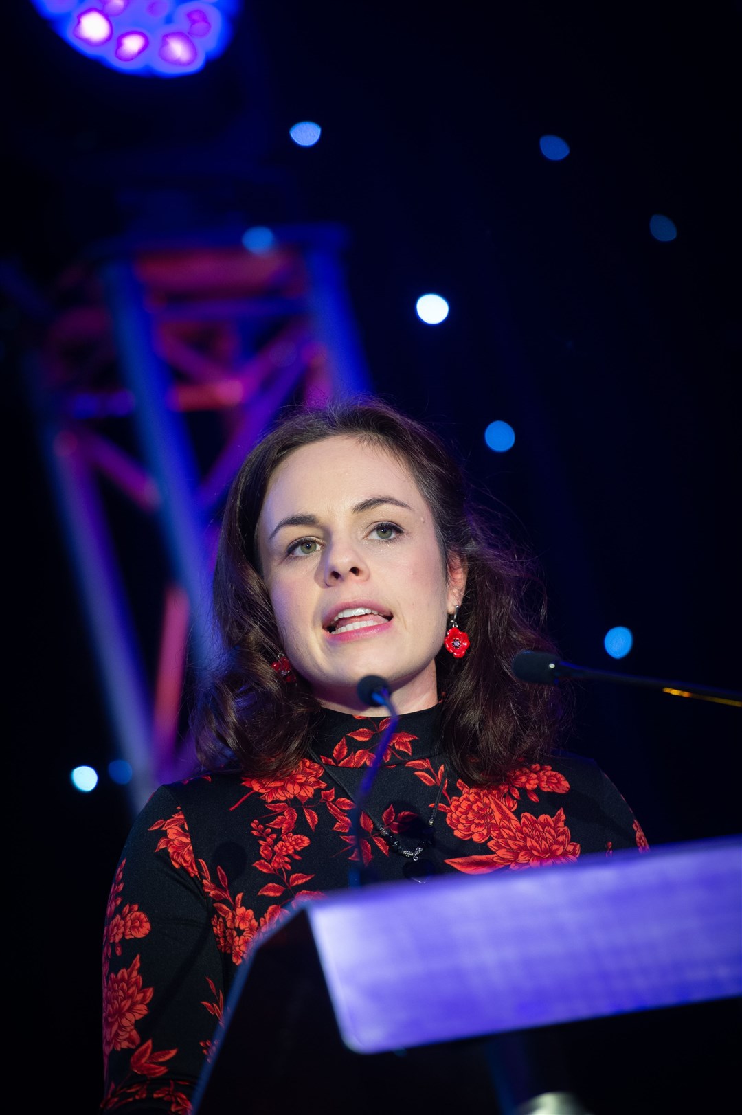
[[[326,766],[365,766],[375,752],[388,716],[357,716],[322,708],[312,750]],[[384,766],[427,758],[441,750],[441,702],[418,712],[403,712],[391,740]]]

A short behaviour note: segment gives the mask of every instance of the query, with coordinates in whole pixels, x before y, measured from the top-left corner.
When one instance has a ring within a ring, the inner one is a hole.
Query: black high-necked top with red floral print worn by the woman
[[[289,776],[211,773],[152,795],[106,914],[103,1109],[190,1111],[237,966],[296,899],[348,885],[353,798],[386,724],[325,710]],[[478,874],[646,849],[592,760],[559,753],[474,788],[444,760],[439,728],[437,707],[399,719],[362,815],[372,881],[414,885],[421,862]],[[418,861],[404,854],[421,846]]]

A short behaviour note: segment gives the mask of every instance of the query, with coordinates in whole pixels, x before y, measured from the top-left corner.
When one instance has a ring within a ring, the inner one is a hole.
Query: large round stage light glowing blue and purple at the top
[[[177,77],[216,58],[241,0],[31,0],[57,33],[124,74]]]

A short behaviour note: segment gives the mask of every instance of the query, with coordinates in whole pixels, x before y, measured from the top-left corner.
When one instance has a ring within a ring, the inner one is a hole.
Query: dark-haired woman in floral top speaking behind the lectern
[[[152,796],[112,889],[105,1109],[189,1109],[237,966],[297,900],[348,885],[358,850],[366,880],[412,883],[644,847],[603,772],[556,750],[561,695],[510,670],[552,649],[534,586],[441,439],[384,403],[300,409],[249,454],[214,575],[225,659],[194,716],[202,770]],[[358,696],[367,675],[399,721],[358,838],[388,720]]]

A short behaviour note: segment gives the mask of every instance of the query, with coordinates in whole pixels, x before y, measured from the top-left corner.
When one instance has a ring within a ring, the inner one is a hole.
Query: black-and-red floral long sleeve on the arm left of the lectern
[[[223,1006],[223,967],[183,814],[163,787],[116,871],[103,993],[103,1108],[187,1111]]]

